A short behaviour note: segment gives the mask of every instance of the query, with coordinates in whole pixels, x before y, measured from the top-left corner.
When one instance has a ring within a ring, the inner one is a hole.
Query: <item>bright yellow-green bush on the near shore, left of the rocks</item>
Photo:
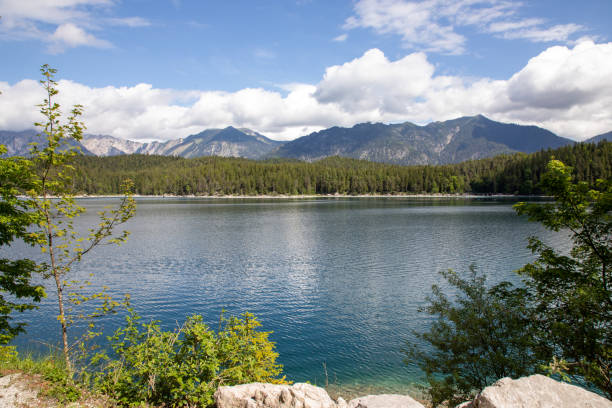
[[[285,383],[270,333],[249,313],[222,316],[217,333],[199,315],[174,331],[139,319],[131,311],[110,338],[114,358],[97,356],[95,384],[122,405],[209,406],[220,385]]]

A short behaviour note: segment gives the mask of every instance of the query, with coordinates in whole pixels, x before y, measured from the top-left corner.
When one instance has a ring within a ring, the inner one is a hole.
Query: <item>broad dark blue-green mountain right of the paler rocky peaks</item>
[[[288,142],[271,155],[307,161],[338,155],[396,164],[445,164],[568,143],[536,126],[499,123],[478,115],[426,126],[406,122],[333,127]]]

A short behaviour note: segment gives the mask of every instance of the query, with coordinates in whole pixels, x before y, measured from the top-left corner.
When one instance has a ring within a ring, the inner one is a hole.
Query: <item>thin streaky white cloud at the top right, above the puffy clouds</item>
[[[505,39],[562,41],[581,30],[578,24],[547,26],[540,18],[520,19],[514,0],[359,0],[344,28],[370,28],[402,37],[406,48],[462,54],[467,39],[457,31],[475,27]]]

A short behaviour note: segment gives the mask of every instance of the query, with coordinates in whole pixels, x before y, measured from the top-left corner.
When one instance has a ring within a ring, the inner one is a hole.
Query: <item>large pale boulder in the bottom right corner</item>
[[[461,408],[612,408],[612,401],[543,375],[502,378]]]

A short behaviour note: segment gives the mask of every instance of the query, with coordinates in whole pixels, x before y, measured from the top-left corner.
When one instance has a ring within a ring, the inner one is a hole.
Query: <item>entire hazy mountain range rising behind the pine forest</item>
[[[589,139],[612,138],[612,132]],[[26,155],[36,131],[0,131],[7,155]],[[245,128],[207,129],[184,139],[142,143],[106,135],[86,135],[83,154],[115,156],[155,154],[182,156],[293,158],[315,161],[343,156],[394,164],[447,164],[502,153],[531,153],[574,143],[537,126],[500,123],[482,115],[462,117],[425,126],[361,123],[351,128],[332,127],[289,142],[280,142]]]

